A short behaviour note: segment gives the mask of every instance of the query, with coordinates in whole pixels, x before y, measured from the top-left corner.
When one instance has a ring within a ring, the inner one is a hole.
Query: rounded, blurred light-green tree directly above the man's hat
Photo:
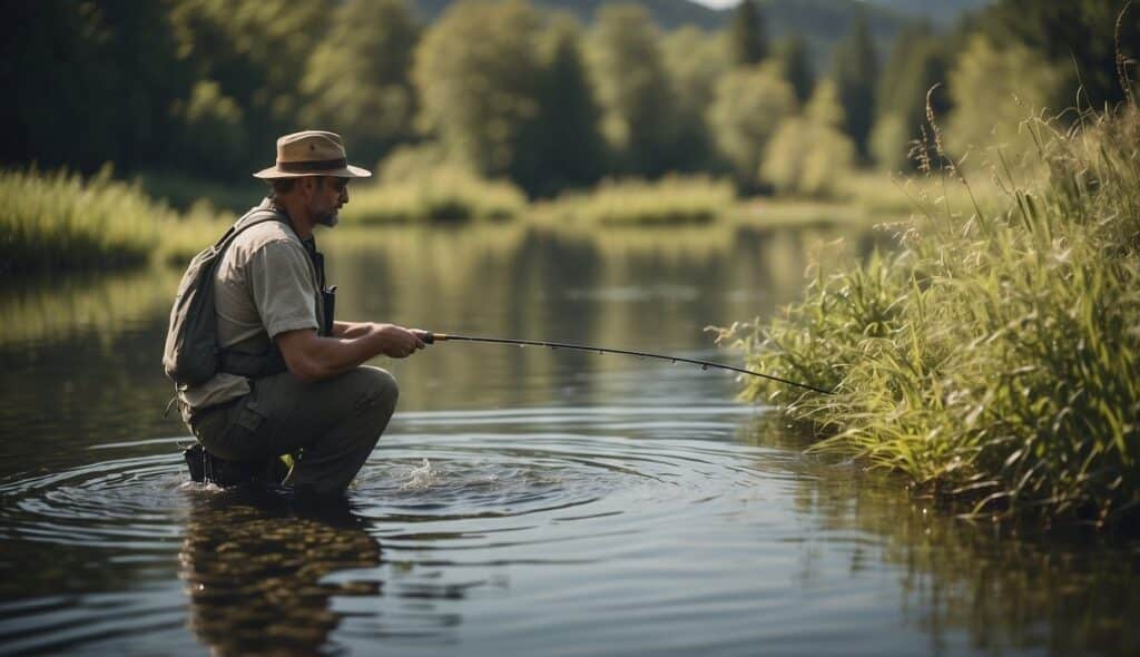
[[[410,139],[418,38],[402,0],[347,0],[306,66],[304,122],[340,132],[358,157],[373,161]]]

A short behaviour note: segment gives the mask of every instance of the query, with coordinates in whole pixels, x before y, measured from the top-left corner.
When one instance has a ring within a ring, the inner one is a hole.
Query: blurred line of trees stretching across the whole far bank
[[[1016,140],[1039,107],[1118,103],[1140,43],[1124,0],[1000,0],[887,52],[856,21],[822,66],[755,0],[723,33],[661,32],[620,3],[588,26],[526,0],[463,0],[429,25],[404,0],[2,5],[8,164],[226,179],[319,127],[385,171],[461,163],[531,195],[693,171],[826,194],[854,167],[911,167],[928,99],[960,149],[995,125]]]

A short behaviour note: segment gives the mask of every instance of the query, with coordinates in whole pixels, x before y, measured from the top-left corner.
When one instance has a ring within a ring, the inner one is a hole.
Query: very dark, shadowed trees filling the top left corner
[[[162,5],[5,2],[0,160],[93,171],[177,157],[171,105],[193,82]]]

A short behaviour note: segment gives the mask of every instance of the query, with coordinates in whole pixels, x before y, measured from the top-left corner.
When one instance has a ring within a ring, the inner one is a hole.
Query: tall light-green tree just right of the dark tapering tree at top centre
[[[668,171],[674,99],[649,11],[603,6],[589,36],[588,60],[602,105],[602,132],[618,169],[643,176]]]

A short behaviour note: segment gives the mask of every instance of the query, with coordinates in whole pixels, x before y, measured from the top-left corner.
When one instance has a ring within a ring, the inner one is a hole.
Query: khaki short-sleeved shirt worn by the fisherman
[[[316,268],[296,234],[280,221],[258,224],[230,243],[214,274],[221,347],[260,354],[278,333],[317,330],[319,299]],[[198,409],[249,392],[247,379],[219,372],[178,397]]]

